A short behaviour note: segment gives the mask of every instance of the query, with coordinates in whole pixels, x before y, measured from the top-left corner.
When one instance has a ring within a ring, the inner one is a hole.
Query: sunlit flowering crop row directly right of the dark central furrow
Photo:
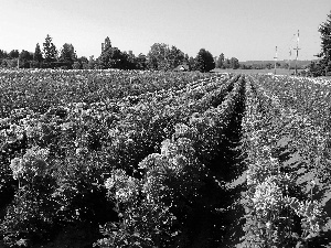
[[[295,247],[325,229],[317,151],[323,140],[309,118],[285,107],[252,77],[246,84],[245,245]],[[309,143],[310,150],[307,149]],[[325,209],[325,208],[324,208]]]

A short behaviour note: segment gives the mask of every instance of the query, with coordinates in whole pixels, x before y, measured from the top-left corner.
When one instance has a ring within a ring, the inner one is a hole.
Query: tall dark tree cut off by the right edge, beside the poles
[[[320,25],[319,32],[321,34],[321,52],[318,56],[322,58],[320,66],[327,75],[331,71],[331,12],[327,15],[327,21]]]

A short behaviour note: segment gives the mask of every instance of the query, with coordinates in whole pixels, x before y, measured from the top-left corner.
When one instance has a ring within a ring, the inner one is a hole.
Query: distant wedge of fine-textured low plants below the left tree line
[[[90,104],[168,88],[177,90],[204,78],[199,73],[1,71],[0,117],[9,117],[18,108],[44,114],[51,106],[66,103]]]

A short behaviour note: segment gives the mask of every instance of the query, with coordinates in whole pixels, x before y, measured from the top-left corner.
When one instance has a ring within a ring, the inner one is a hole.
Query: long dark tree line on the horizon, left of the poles
[[[222,53],[218,58],[205,48],[201,48],[196,56],[189,56],[174,45],[154,43],[148,54],[140,53],[136,56],[132,51],[120,51],[111,45],[107,36],[102,46],[99,57],[78,57],[73,44],[65,43],[58,51],[53,39],[47,34],[44,43],[38,43],[34,52],[12,50],[7,53],[0,50],[0,67],[13,68],[63,68],[63,69],[152,69],[173,71],[184,65],[186,71],[210,72],[213,68],[238,68],[238,60],[224,58]]]

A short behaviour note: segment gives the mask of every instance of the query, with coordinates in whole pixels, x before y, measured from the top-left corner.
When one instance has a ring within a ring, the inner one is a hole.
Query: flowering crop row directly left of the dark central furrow
[[[140,180],[121,170],[110,173],[106,187],[121,218],[106,224],[105,238],[98,240],[102,247],[192,245],[185,223],[194,207],[203,204],[200,188],[206,177],[214,180],[209,166],[220,152],[235,107],[243,100],[243,86],[239,78],[222,104],[175,123],[171,138],[162,141],[161,152],[139,163]]]

